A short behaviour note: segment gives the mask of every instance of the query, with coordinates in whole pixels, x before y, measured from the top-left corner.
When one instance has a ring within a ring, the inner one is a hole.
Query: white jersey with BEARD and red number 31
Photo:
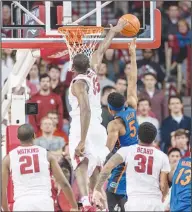
[[[162,198],[159,177],[169,172],[166,154],[152,146],[139,144],[123,147],[117,152],[126,164],[126,190],[128,197],[149,196]]]

